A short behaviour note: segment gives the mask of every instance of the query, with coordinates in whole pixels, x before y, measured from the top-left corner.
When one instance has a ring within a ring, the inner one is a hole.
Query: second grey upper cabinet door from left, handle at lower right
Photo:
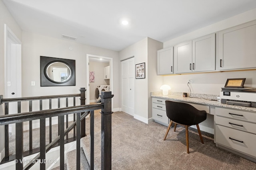
[[[192,41],[174,46],[174,73],[192,72]]]

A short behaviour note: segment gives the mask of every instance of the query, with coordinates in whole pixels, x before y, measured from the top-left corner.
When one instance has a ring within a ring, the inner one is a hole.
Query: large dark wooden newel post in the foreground
[[[111,170],[111,143],[112,143],[112,108],[111,100],[114,97],[111,92],[101,92],[101,169]]]

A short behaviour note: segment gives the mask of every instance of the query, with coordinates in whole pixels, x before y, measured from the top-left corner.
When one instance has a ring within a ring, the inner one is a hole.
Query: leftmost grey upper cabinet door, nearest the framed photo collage
[[[173,47],[157,51],[157,74],[173,74]]]

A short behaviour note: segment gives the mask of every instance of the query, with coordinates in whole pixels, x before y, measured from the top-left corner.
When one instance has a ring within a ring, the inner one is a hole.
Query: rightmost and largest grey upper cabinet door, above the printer
[[[219,69],[256,67],[256,21],[219,33]]]

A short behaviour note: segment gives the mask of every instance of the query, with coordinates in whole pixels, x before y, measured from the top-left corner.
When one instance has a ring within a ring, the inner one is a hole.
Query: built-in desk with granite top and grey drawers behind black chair
[[[206,110],[207,119],[199,126],[202,131],[214,134],[216,146],[256,162],[256,107],[222,104],[215,101],[216,95],[183,97],[177,94],[151,93],[154,121],[168,126],[165,100],[185,102]]]

